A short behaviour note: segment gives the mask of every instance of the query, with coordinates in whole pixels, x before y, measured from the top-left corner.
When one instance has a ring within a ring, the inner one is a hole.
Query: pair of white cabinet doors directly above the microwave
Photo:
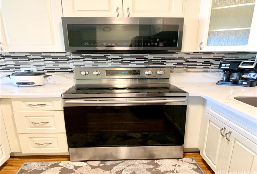
[[[182,17],[183,0],[62,0],[65,17]]]

